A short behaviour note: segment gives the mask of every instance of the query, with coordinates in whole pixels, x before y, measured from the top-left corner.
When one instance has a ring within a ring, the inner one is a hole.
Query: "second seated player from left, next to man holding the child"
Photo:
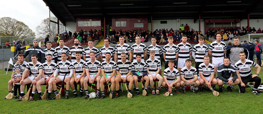
[[[30,84],[31,82],[34,85],[32,88],[32,94],[31,94],[31,97],[29,98],[29,101],[33,100],[33,96],[34,96],[34,93],[36,91],[36,83],[39,79],[41,79],[41,75],[42,75],[42,71],[43,71],[43,66],[39,61],[37,61],[37,59],[38,59],[37,55],[35,55],[35,54],[31,55],[32,62],[27,63],[27,66],[25,67],[25,70],[24,70],[23,75],[22,75],[22,79],[20,81],[21,97],[20,97],[20,99],[18,99],[18,101],[21,101],[25,95],[25,93],[24,93],[25,85]],[[31,76],[28,76],[27,78],[25,78],[26,72],[28,70],[30,71]],[[37,77],[34,79],[34,76],[37,76]],[[34,81],[33,81],[33,79],[34,79]],[[41,91],[39,92],[39,96],[40,97],[42,96]]]

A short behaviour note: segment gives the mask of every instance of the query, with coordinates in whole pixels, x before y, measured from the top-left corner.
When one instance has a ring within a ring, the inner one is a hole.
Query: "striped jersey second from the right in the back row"
[[[204,57],[208,55],[208,47],[204,44],[196,44],[193,46],[193,55],[195,55],[195,62],[204,62]]]

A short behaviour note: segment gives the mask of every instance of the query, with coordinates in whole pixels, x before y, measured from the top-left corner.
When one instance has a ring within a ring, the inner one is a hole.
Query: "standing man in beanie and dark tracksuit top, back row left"
[[[41,47],[38,46],[38,40],[34,39],[33,40],[33,46],[29,47],[25,50],[24,52],[24,56],[26,57],[27,55],[29,56],[29,62],[31,62],[31,55],[37,55],[37,61],[39,61],[40,63],[45,63],[45,54],[44,51]]]

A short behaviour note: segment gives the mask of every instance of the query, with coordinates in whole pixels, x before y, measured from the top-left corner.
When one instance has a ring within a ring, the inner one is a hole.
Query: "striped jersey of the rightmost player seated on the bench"
[[[151,60],[151,58],[149,58],[149,59],[147,59],[146,60],[146,67],[147,68],[149,68],[149,71],[150,71],[150,73],[152,73],[152,74],[156,74],[156,73],[158,73],[157,72],[157,68],[158,67],[161,67],[161,62],[160,62],[160,60],[158,60],[158,59],[156,59],[156,58],[154,58],[154,60],[152,61]]]

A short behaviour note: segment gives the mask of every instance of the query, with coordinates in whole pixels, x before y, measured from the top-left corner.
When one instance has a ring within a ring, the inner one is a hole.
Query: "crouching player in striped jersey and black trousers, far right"
[[[259,95],[259,91],[257,90],[257,88],[261,83],[261,78],[258,77],[258,73],[260,72],[261,67],[254,61],[245,59],[245,52],[239,52],[239,58],[240,60],[238,60],[238,62],[236,62],[235,64],[236,74],[238,75],[238,79],[240,80],[240,83],[238,84],[239,92],[245,93],[246,84],[248,82],[255,82],[252,93]],[[250,74],[251,66],[257,68],[256,74]]]

